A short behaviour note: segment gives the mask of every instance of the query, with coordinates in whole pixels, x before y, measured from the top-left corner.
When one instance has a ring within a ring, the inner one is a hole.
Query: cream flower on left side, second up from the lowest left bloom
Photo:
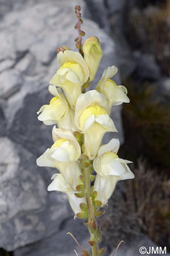
[[[38,120],[46,125],[57,124],[58,128],[78,131],[74,124],[74,112],[70,108],[60,88],[49,85],[49,92],[54,96],[49,105],[43,105],[37,114]]]

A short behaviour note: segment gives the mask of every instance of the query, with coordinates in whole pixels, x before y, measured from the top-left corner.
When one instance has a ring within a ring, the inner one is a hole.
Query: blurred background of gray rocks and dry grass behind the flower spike
[[[130,98],[112,110],[119,134],[104,138],[119,138],[135,174],[118,183],[100,221],[106,256],[121,240],[117,256],[140,256],[141,246],[170,255],[170,0],[0,0],[0,256],[80,254],[67,232],[88,248],[65,195],[47,192],[55,170],[36,166],[52,144],[36,112],[51,99],[56,48],[76,50],[77,4],[85,38],[98,36],[103,49],[92,87],[116,65],[113,80]]]

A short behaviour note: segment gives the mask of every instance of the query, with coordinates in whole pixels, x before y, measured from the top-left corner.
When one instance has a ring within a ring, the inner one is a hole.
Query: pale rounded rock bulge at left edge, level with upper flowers
[[[6,70],[0,74],[0,97],[9,98],[20,89],[22,76],[16,70]]]

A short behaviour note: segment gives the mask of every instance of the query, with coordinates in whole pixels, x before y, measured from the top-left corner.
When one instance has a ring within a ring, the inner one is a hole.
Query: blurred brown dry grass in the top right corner
[[[162,71],[170,72],[170,1],[162,7],[148,6],[129,15],[132,47],[155,55]],[[134,40],[134,37],[136,40]]]

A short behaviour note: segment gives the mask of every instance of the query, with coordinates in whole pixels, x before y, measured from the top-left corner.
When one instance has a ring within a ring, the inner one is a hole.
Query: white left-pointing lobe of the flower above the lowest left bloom
[[[55,148],[48,148],[39,158],[36,160],[38,166],[56,167],[58,161],[51,157],[51,154],[55,151]]]

